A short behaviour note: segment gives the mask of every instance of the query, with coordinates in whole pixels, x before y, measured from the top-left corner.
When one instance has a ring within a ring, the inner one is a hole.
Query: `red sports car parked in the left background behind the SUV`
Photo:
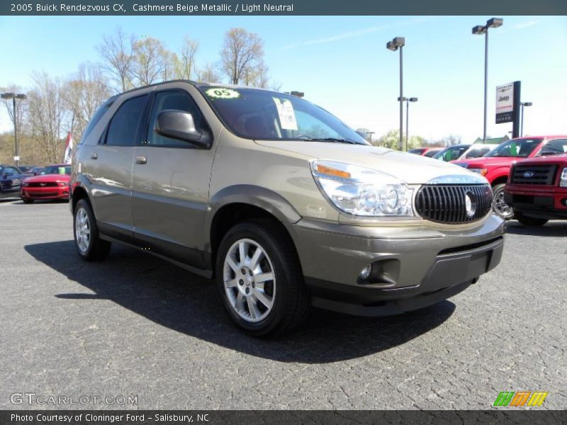
[[[23,181],[20,193],[23,203],[33,203],[36,199],[69,200],[70,175],[70,164],[46,166],[38,176]]]

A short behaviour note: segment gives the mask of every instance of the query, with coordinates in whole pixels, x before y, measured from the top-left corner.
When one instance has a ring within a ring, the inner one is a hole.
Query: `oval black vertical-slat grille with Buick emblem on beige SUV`
[[[471,201],[467,211],[467,198]],[[485,217],[492,208],[492,189],[485,185],[425,185],[417,191],[415,210],[432,222],[459,224]]]

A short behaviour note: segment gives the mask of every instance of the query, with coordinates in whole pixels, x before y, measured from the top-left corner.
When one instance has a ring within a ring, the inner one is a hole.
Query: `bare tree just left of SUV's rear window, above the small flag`
[[[110,96],[101,70],[88,62],[80,64],[77,73],[65,82],[64,108],[72,114],[69,131],[76,139],[80,139],[96,108]]]

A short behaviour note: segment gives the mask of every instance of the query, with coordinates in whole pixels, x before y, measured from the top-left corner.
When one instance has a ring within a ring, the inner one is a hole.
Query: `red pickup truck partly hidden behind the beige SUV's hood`
[[[454,164],[485,176],[493,188],[494,212],[510,219],[514,217],[514,210],[504,199],[504,188],[512,165],[528,158],[563,154],[566,145],[567,135],[519,137],[504,142],[484,157],[455,161]]]

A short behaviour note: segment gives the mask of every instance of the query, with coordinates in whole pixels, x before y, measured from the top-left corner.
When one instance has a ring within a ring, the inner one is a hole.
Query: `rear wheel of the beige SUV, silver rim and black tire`
[[[74,210],[74,239],[77,251],[86,261],[104,259],[111,249],[111,243],[99,236],[99,228],[88,200],[79,200]]]

